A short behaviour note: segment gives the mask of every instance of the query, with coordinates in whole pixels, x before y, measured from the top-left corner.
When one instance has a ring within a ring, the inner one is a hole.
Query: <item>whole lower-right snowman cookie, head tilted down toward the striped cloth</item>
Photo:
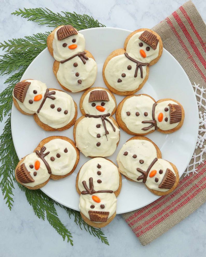
[[[120,149],[120,172],[131,181],[142,182],[155,195],[167,195],[178,185],[176,166],[161,159],[160,149],[146,137],[132,137]]]

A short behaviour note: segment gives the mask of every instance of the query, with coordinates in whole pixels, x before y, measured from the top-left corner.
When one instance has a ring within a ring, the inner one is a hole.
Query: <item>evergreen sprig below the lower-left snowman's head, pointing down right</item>
[[[46,218],[49,224],[61,235],[63,240],[67,238],[67,242],[70,242],[70,244],[73,245],[70,231],[68,231],[65,225],[58,218],[56,208],[54,207],[54,201],[49,196],[44,194],[40,189],[30,190],[19,183],[18,186],[22,191],[25,192],[26,199],[32,206],[35,215],[39,219],[45,220],[46,213]]]

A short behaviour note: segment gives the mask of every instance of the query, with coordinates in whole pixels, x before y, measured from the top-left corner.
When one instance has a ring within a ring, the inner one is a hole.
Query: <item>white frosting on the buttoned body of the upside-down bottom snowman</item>
[[[97,165],[101,165],[101,168],[97,168]],[[101,174],[98,175],[97,172]],[[80,169],[78,187],[80,191],[84,191],[85,188],[82,181],[86,181],[89,188],[89,179],[93,178],[94,190],[112,190],[116,191],[119,188],[119,172],[116,165],[111,161],[104,158],[97,157],[87,161]],[[98,183],[97,180],[101,180]]]

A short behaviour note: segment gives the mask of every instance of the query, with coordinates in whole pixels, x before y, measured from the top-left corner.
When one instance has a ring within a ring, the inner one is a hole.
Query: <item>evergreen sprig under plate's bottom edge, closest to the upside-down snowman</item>
[[[109,245],[109,242],[107,240],[107,238],[104,236],[104,233],[101,231],[101,229],[98,229],[96,227],[92,227],[90,225],[88,225],[83,218],[81,217],[81,214],[79,211],[75,211],[73,209],[70,209],[64,205],[59,204],[58,202],[55,202],[55,204],[57,204],[58,206],[60,206],[61,208],[63,208],[67,214],[69,215],[69,218],[71,219],[71,215],[74,216],[74,222],[79,225],[80,229],[82,230],[82,227],[84,227],[84,229],[86,231],[88,231],[90,233],[90,235],[94,235],[95,237],[98,237],[102,243],[105,243],[106,245]]]

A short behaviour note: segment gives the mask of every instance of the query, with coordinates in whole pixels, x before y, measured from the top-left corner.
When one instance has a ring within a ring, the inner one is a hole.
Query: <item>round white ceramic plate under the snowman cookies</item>
[[[113,50],[122,48],[126,37],[131,33],[128,30],[118,28],[91,28],[81,31],[86,39],[86,49],[90,51],[97,64],[97,80],[93,87],[106,87],[102,79],[102,66]],[[46,83],[48,88],[62,89],[52,71],[54,59],[45,49],[40,53],[25,71],[23,79],[35,79]],[[195,149],[198,134],[198,108],[195,94],[191,83],[175,58],[163,49],[160,60],[149,69],[149,78],[138,94],[148,94],[156,101],[162,98],[173,98],[179,101],[185,111],[184,124],[180,130],[171,134],[154,132],[148,135],[162,152],[162,158],[174,163],[180,176],[186,169]],[[82,92],[69,93],[74,101],[79,105]],[[119,102],[123,96],[115,95]],[[78,107],[78,118],[81,112]],[[73,139],[73,127],[62,132],[47,132],[41,129],[33,119],[20,113],[15,106],[11,111],[11,129],[14,146],[21,159],[25,155],[32,153],[38,143],[52,135],[63,135]],[[115,153],[108,157],[116,163],[116,156],[122,145],[132,136],[124,131],[120,131],[121,137]],[[75,189],[76,175],[80,167],[88,161],[82,153],[79,164],[74,173],[61,180],[50,180],[41,190],[55,201],[79,210],[79,195]],[[152,194],[142,183],[126,180],[122,177],[122,190],[118,196],[116,213],[124,213],[139,209],[153,201],[158,196]]]

